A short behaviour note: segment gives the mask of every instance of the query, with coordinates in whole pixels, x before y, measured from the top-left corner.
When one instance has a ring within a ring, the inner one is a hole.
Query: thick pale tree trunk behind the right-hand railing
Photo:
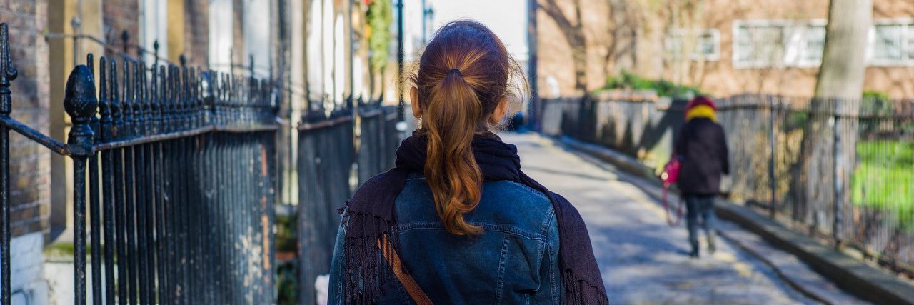
[[[839,243],[844,239],[844,215],[851,206],[856,114],[863,94],[872,15],[872,0],[832,0],[829,5],[822,66],[803,132],[802,173],[795,178],[794,216],[832,230]],[[832,217],[824,217],[829,214]],[[829,220],[834,221],[831,227],[820,223]]]

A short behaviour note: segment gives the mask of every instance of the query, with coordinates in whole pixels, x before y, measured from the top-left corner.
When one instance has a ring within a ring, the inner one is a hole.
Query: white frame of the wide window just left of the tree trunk
[[[812,20],[734,20],[731,52],[733,68],[817,68],[822,63],[819,60],[810,60],[803,55],[811,50],[807,49],[808,41],[805,33],[813,26],[825,26],[825,19]],[[755,60],[741,61],[738,58],[741,47],[739,46],[739,29],[750,27],[778,27],[781,30],[781,58],[780,60]]]

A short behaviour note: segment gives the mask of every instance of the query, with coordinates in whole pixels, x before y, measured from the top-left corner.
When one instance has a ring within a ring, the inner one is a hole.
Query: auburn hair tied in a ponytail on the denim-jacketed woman
[[[412,102],[421,109],[419,132],[428,137],[424,172],[435,208],[451,234],[479,235],[483,228],[464,218],[483,193],[473,136],[494,128],[490,117],[515,94],[510,80],[523,82],[523,71],[489,28],[467,20],[442,26],[418,67],[410,77],[418,91]]]

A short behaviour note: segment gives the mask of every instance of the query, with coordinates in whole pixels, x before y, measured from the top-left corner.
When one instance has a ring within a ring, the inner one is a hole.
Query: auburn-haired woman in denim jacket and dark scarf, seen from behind
[[[578,211],[492,131],[523,74],[491,30],[441,27],[411,76],[421,127],[346,204],[330,304],[607,304]]]

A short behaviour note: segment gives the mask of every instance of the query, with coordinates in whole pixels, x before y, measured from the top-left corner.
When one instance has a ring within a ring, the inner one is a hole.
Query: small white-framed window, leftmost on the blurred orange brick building
[[[715,61],[720,58],[720,32],[711,29],[675,29],[665,41],[666,52],[673,58],[689,53],[693,60]]]

